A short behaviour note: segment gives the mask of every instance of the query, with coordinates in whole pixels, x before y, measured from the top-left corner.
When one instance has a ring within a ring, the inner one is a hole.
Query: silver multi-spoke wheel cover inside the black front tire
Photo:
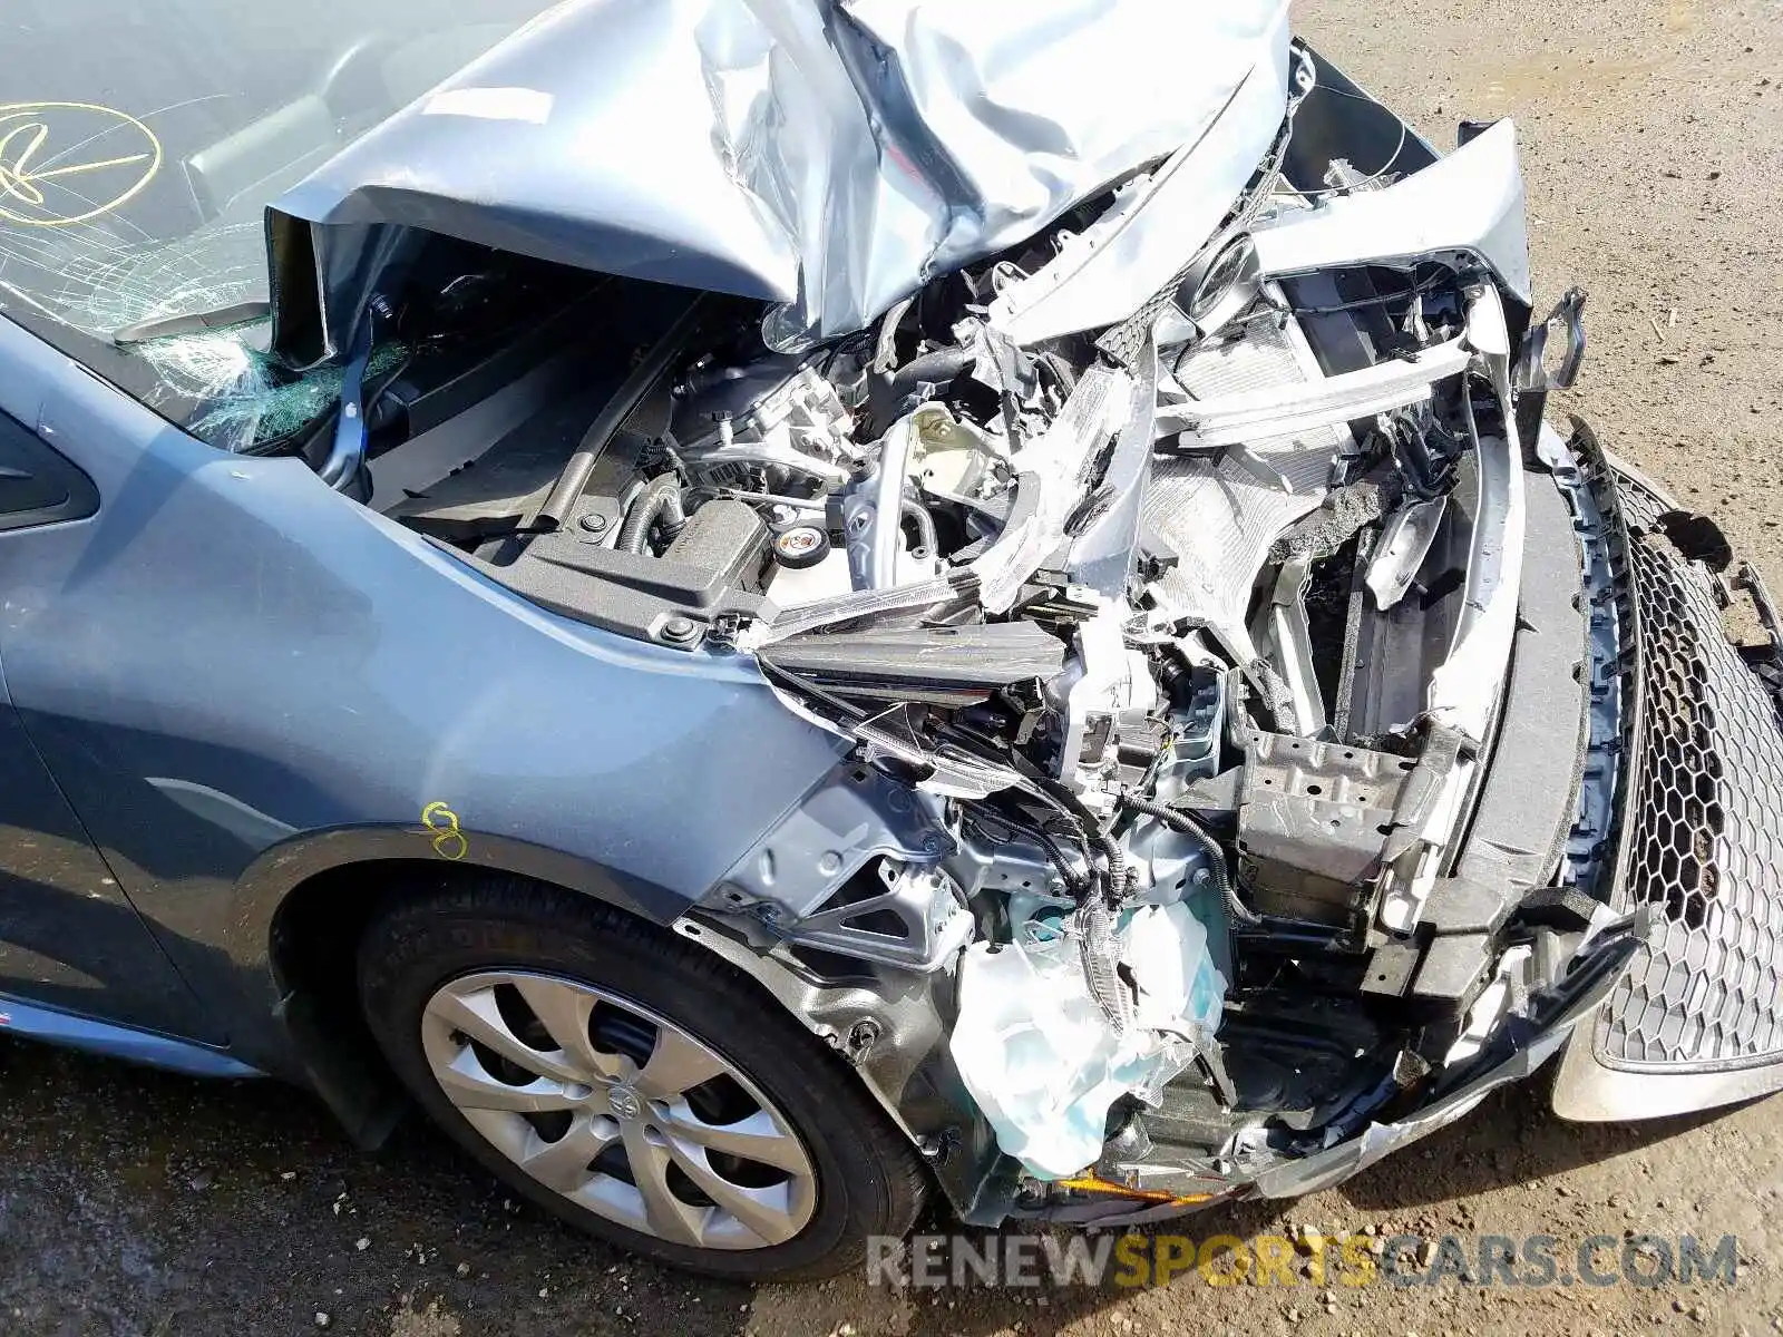
[[[788,1120],[736,1064],[635,1002],[480,972],[428,998],[421,1045],[490,1146],[608,1221],[752,1250],[811,1219],[817,1171]]]

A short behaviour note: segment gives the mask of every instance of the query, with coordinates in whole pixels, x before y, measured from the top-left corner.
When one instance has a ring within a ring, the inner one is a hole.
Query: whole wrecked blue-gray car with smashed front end
[[[0,37],[0,1034],[745,1280],[1783,1086],[1778,617],[1549,421],[1512,121],[1282,0]]]

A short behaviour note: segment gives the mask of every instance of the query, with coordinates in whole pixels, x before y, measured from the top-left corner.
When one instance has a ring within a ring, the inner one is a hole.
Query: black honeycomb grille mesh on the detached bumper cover
[[[1783,731],[1713,578],[1623,480],[1642,672],[1626,904],[1655,932],[1598,1016],[1599,1059],[1708,1071],[1783,1054]]]

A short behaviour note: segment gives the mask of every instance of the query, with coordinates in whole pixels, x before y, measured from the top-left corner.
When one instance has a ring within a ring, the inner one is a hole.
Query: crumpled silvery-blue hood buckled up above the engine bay
[[[1186,144],[1255,162],[1282,98],[1236,94],[1287,36],[1286,0],[567,0],[271,205],[275,348],[349,346],[412,228],[847,333]]]

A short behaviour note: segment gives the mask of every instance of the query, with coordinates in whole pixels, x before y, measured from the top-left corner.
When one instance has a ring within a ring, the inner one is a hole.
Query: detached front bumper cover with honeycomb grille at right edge
[[[1783,1087],[1783,720],[1774,645],[1742,649],[1713,526],[1589,458],[1612,533],[1630,702],[1612,907],[1651,929],[1562,1057],[1555,1111],[1635,1120]],[[1676,535],[1678,542],[1667,533]],[[1753,583],[1760,620],[1774,626]]]

